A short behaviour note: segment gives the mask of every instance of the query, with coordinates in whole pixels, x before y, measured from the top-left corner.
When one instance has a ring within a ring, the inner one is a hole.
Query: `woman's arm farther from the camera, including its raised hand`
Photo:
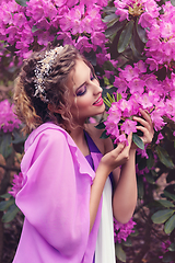
[[[135,119],[143,125],[139,126],[138,129],[143,132],[143,136],[141,137],[143,142],[149,144],[154,134],[153,125],[150,116],[142,110],[140,112],[143,118],[135,117]],[[121,165],[120,173],[118,170],[113,172],[116,183],[113,210],[115,218],[122,224],[131,218],[137,204],[136,149],[137,146],[132,142],[129,151],[129,160]]]

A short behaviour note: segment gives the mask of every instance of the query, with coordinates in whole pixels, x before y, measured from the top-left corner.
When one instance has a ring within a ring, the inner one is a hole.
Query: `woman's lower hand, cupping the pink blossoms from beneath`
[[[100,165],[103,165],[104,169],[109,174],[114,169],[120,167],[129,159],[129,151],[132,142],[132,134],[128,136],[128,146],[125,144],[118,144],[118,146],[106,153],[100,162]]]

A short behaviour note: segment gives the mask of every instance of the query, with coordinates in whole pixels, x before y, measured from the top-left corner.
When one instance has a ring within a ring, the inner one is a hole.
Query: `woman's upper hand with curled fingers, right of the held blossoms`
[[[141,108],[140,108],[140,113],[143,118],[133,116],[133,121],[139,122],[142,125],[142,126],[137,126],[137,129],[143,133],[143,136],[141,136],[141,139],[145,145],[152,141],[152,138],[154,136],[154,129],[153,129],[153,124],[149,114]]]

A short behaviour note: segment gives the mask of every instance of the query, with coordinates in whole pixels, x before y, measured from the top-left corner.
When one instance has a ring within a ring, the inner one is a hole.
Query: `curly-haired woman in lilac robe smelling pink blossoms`
[[[69,45],[34,54],[21,70],[14,102],[31,135],[16,194],[25,220],[13,263],[115,262],[113,216],[127,222],[133,214],[137,147],[130,134],[128,146],[114,149],[86,124],[105,111],[93,67]],[[153,127],[141,114],[135,119],[148,144]]]

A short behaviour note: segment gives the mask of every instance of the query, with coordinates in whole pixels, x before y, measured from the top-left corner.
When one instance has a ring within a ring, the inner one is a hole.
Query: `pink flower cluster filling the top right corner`
[[[175,7],[168,1],[162,8],[163,12],[159,19],[152,21],[147,31],[145,54],[150,70],[158,70],[161,66],[175,69]],[[142,23],[141,25],[144,26]]]

